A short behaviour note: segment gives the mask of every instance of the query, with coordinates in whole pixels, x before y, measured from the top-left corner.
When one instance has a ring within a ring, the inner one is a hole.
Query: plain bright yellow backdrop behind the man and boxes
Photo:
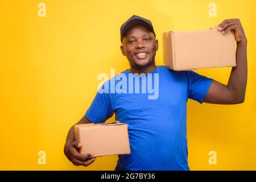
[[[46,17],[38,16],[40,2],[46,4]],[[217,5],[216,17],[208,15],[211,2]],[[63,147],[69,127],[80,120],[97,92],[98,74],[129,68],[119,48],[119,28],[136,14],[150,19],[155,28],[157,65],[163,65],[162,32],[207,29],[240,18],[248,40],[245,102],[188,101],[188,162],[192,170],[255,170],[255,10],[253,0],[1,0],[0,169],[114,169],[116,155],[76,167],[65,158]],[[230,71],[196,72],[227,84]],[[38,164],[38,151],[46,151],[45,165]],[[209,151],[217,152],[216,165],[208,163]]]

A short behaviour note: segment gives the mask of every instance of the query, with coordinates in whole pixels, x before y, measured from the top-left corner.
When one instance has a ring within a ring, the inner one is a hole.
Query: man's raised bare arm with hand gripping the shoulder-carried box
[[[236,67],[232,68],[228,85],[213,80],[204,102],[210,104],[240,104],[245,100],[247,83],[247,39],[239,19],[227,19],[219,24],[222,34],[234,31],[237,42]]]

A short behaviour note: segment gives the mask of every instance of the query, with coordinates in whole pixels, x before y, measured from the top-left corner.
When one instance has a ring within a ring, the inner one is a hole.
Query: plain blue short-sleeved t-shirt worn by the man
[[[139,77],[139,89],[129,76]],[[193,71],[164,66],[142,76],[126,70],[106,81],[86,117],[102,123],[115,113],[118,121],[129,124],[131,154],[118,155],[115,170],[189,170],[187,101],[203,103],[212,81]]]

